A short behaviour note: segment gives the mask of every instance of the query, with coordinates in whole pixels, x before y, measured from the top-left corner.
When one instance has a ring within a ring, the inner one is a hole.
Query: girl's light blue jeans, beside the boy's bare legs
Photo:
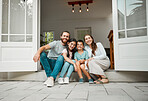
[[[75,60],[72,60],[72,61],[73,61],[74,63],[76,62]],[[69,69],[68,69],[68,67],[69,67]],[[64,63],[64,66],[63,66],[62,71],[61,71],[61,74],[60,74],[60,77],[61,77],[61,78],[64,77],[64,75],[65,75],[65,73],[66,73],[67,70],[68,70],[68,72],[67,72],[66,77],[70,77],[71,73],[74,71],[74,66],[73,66],[73,64],[71,64],[71,63],[69,63],[69,62],[65,62],[65,63]]]

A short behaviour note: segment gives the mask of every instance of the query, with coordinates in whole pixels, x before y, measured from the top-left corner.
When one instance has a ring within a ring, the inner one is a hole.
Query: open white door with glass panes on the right
[[[112,0],[115,70],[148,71],[148,1]]]

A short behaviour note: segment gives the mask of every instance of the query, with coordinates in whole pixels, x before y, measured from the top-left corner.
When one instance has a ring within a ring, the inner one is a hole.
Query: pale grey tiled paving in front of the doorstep
[[[48,88],[43,82],[0,82],[0,101],[148,101],[148,83],[68,85]]]

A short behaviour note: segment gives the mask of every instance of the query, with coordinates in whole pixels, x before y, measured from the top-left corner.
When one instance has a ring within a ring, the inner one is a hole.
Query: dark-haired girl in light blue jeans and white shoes
[[[75,69],[75,71],[77,71],[75,60],[73,60],[74,59],[74,53],[76,51],[76,48],[75,48],[76,47],[76,43],[77,43],[76,39],[71,38],[67,42],[67,48],[64,49],[63,52],[62,52],[62,55],[63,55],[63,57],[64,57],[66,62],[64,63],[64,66],[62,68],[60,77],[58,79],[58,83],[59,84],[64,84],[64,83],[68,84],[69,83],[70,75],[72,74],[74,69]],[[68,70],[67,75],[66,75],[65,78],[63,78],[67,70]]]

